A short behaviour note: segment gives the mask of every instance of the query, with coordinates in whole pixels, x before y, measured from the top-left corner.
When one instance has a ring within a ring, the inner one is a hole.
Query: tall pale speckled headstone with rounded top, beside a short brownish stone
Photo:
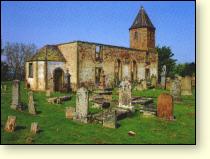
[[[81,87],[77,90],[76,95],[76,113],[74,116],[74,120],[78,120],[83,123],[87,123],[87,115],[88,115],[88,101],[89,95],[88,90],[84,87]]]

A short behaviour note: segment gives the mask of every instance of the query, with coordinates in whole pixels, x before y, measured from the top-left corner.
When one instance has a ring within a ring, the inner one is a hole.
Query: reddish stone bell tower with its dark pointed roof
[[[148,50],[155,48],[155,27],[143,7],[139,10],[130,32],[130,48]]]

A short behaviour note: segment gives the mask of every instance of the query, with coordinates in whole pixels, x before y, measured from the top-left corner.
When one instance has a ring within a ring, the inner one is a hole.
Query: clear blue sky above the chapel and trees
[[[178,63],[195,61],[194,2],[1,2],[1,39],[58,44],[75,40],[129,47],[129,28],[141,6],[156,27],[156,46]]]

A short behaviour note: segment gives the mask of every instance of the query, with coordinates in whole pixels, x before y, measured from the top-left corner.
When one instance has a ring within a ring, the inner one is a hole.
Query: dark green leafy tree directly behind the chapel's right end
[[[170,47],[156,47],[158,52],[158,79],[160,80],[160,75],[162,71],[163,65],[166,65],[166,76],[167,77],[174,77],[174,69],[176,66],[176,59],[172,57],[174,54],[171,51]]]

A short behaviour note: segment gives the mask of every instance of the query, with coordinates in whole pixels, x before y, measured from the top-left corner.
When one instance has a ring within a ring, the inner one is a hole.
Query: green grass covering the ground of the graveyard
[[[117,129],[103,128],[100,124],[81,124],[65,119],[65,107],[75,107],[75,94],[63,104],[48,104],[44,92],[35,92],[34,100],[38,115],[33,116],[28,110],[18,112],[10,109],[11,82],[6,82],[7,91],[1,92],[1,144],[27,144],[28,137],[32,144],[195,144],[195,93],[182,96],[182,102],[175,103],[175,121],[165,121],[157,117],[144,117],[138,112],[134,116],[120,120]],[[157,101],[165,90],[133,91],[133,96],[153,97]],[[53,96],[64,95],[54,93]],[[21,83],[21,101],[27,105],[27,90]],[[113,92],[117,100],[117,90]],[[97,110],[91,109],[91,112]],[[8,115],[17,117],[17,130],[13,133],[4,131]],[[30,134],[32,122],[38,122],[41,132]],[[136,136],[128,136],[128,131]]]

